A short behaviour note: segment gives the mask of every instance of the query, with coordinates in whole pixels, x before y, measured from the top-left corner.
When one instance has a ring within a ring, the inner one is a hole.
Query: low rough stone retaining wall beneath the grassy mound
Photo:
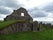
[[[32,31],[32,23],[15,23],[0,30],[0,34]]]

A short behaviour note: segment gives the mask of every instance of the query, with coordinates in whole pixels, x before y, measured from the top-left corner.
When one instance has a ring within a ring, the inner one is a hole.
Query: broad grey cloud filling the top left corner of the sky
[[[12,9],[16,9],[21,6],[17,0],[0,0],[0,3],[0,6],[6,6]]]

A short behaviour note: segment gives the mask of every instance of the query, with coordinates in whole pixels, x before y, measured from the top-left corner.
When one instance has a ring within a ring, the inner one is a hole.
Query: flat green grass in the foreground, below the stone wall
[[[18,32],[0,35],[0,40],[53,40],[53,30],[45,29],[41,32]]]

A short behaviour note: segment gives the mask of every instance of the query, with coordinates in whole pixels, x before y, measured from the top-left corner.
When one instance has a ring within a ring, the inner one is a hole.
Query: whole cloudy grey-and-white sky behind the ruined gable
[[[0,0],[0,20],[20,7],[27,9],[33,21],[53,21],[53,0]]]

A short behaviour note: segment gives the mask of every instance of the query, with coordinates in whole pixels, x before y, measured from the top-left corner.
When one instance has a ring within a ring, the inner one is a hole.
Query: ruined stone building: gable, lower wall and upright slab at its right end
[[[20,20],[20,22],[13,23],[0,29],[0,34],[16,33],[23,31],[36,31],[39,30],[38,23],[33,23],[33,18],[28,14],[24,8],[14,10],[11,15],[4,18],[4,21]]]

